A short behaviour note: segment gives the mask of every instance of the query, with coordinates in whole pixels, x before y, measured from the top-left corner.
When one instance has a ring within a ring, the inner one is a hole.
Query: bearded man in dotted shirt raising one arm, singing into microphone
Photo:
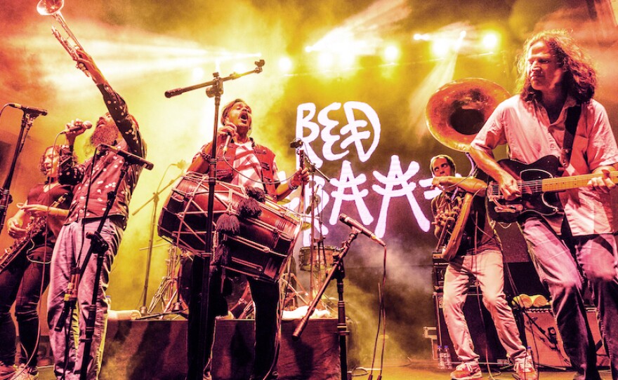
[[[96,129],[91,135],[91,144],[108,144],[129,151],[136,156],[145,157],[145,143],[142,140],[138,123],[129,114],[124,100],[112,90],[110,84],[101,74],[92,58],[82,50],[78,63],[84,65],[94,83],[103,94],[103,100],[109,110],[98,119]],[[69,128],[82,127],[74,132]],[[65,136],[72,149],[75,138],[85,131],[79,120],[67,123]],[[79,337],[75,337],[71,328],[71,315],[66,320],[60,320],[63,315],[63,297],[70,283],[72,271],[84,264],[86,252],[91,245],[91,239],[86,236],[98,229],[101,217],[105,212],[107,194],[114,190],[124,164],[124,158],[111,150],[97,149],[92,158],[78,164],[71,154],[60,157],[60,183],[74,184],[74,198],[65,225],[58,235],[58,243],[53,250],[51,262],[51,282],[48,298],[48,323],[50,326],[50,341],[54,356],[54,370],[58,379],[78,379],[81,362],[84,360],[84,338],[88,306],[93,296],[95,283],[96,256],[92,255],[86,263],[81,281],[77,287],[76,317],[79,319]],[[138,181],[141,165],[128,165],[126,175],[119,184],[117,197],[112,205],[109,216],[105,220],[100,235],[109,245],[105,252],[103,269],[98,289],[96,305],[96,323],[94,326],[87,379],[98,378],[103,357],[103,341],[107,325],[107,299],[105,290],[110,279],[110,269],[129,218],[129,201]],[[58,327],[60,331],[55,331]],[[81,339],[80,339],[81,338]],[[79,339],[79,340],[78,340]],[[66,360],[65,360],[66,359]]]

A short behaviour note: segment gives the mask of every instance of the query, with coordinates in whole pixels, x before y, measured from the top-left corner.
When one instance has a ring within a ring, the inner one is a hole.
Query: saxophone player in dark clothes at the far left
[[[39,313],[37,305],[49,283],[49,261],[71,202],[71,186],[58,184],[61,147],[48,147],[39,161],[46,182],[30,189],[27,201],[7,221],[8,235],[15,243],[6,249],[0,263],[0,379],[37,379]],[[19,366],[15,370],[15,325],[20,337]]]

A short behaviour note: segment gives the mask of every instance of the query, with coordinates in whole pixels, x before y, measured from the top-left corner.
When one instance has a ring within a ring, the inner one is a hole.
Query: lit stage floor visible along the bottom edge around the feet
[[[53,376],[53,369],[51,367],[40,368],[39,380],[55,380]],[[562,372],[562,371],[541,371],[539,373],[539,380],[570,380],[573,379],[574,372]],[[374,370],[372,379],[378,379],[379,370]],[[601,372],[603,379],[611,379],[612,375],[608,370]],[[365,380],[369,378],[369,367],[360,367],[354,370],[353,379]],[[382,372],[382,378],[388,380],[444,380],[448,378],[447,371],[440,371],[435,368],[433,362],[410,362],[408,365],[388,365],[384,367]],[[497,379],[497,380],[512,380],[514,379],[514,373],[511,371],[499,372],[498,369],[492,368],[491,376],[487,369],[483,370],[483,379]],[[118,380],[145,380],[145,379],[118,379]],[[150,380],[150,379],[149,379]],[[152,380],[165,380],[165,379],[152,379]],[[223,380],[223,379],[214,379]],[[301,380],[301,379],[299,379]],[[320,379],[303,379],[303,380],[320,380]]]

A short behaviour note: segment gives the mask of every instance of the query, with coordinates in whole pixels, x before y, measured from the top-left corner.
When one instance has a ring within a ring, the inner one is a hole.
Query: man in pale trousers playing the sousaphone
[[[463,224],[461,243],[456,248],[455,257],[449,262],[444,281],[444,316],[453,342],[455,353],[461,360],[452,379],[480,379],[482,373],[478,365],[478,353],[474,344],[466,317],[463,315],[463,304],[468,296],[471,280],[476,278],[482,291],[482,301],[492,315],[498,338],[508,356],[513,359],[515,372],[520,379],[536,380],[532,358],[527,357],[513,318],[513,311],[508,306],[504,295],[504,262],[500,240],[493,224],[485,212],[485,188],[487,184],[474,177],[454,177],[455,163],[444,154],[435,156],[430,162],[433,174],[433,186],[442,189],[442,194],[433,198],[431,210],[435,217],[435,236],[439,237],[447,225],[447,217],[453,217],[449,203],[461,202],[461,195],[473,194],[472,204],[467,220]],[[459,193],[454,196],[454,191]],[[459,206],[457,206],[459,207]],[[463,215],[461,215],[463,217]],[[446,227],[448,228],[448,227]],[[454,236],[452,237],[454,238]]]

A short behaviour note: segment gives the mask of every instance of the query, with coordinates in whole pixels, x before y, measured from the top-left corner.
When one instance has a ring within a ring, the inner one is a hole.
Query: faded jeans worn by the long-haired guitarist
[[[539,278],[548,287],[556,325],[575,379],[600,379],[596,348],[584,307],[584,279],[598,310],[600,332],[610,357],[612,378],[618,379],[618,254],[612,234],[562,236],[536,217],[520,225]]]

